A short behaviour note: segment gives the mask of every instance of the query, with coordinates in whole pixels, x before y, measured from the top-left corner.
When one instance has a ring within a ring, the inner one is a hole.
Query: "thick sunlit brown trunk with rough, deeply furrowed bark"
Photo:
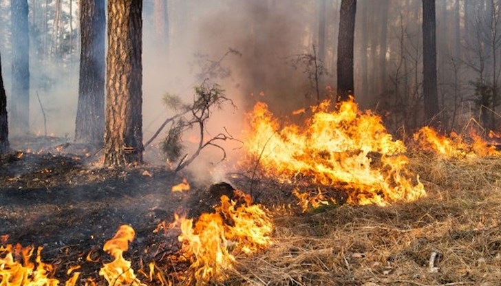
[[[108,0],[105,165],[142,162],[142,0]]]

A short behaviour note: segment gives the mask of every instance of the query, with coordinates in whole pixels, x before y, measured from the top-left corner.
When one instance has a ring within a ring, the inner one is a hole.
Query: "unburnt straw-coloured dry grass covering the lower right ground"
[[[229,285],[500,285],[501,159],[412,155],[428,196],[275,216],[275,244]],[[430,256],[438,259],[430,267]]]

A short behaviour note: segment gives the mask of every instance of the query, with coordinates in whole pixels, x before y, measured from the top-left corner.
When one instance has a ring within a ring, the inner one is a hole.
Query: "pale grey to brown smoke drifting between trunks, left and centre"
[[[48,135],[72,140],[78,101],[78,11],[74,3],[74,31],[70,33],[67,22],[69,2],[63,1],[62,12],[66,21],[61,33],[66,36],[58,42],[59,53],[47,56],[47,49],[56,43],[51,38],[54,22],[47,21],[44,25],[45,19],[41,14],[45,8],[43,3],[35,2],[33,9],[30,1],[30,129],[32,133],[43,135],[43,114],[38,93],[47,116]],[[292,62],[298,55],[312,53],[312,45],[316,43],[315,36],[312,36],[317,29],[316,7],[312,0],[288,1],[287,5],[266,0],[171,0],[167,44],[158,36],[158,30],[162,29],[158,25],[165,25],[165,22],[155,21],[158,15],[155,15],[154,1],[145,0],[142,112],[145,140],[157,131],[165,118],[173,115],[173,111],[162,104],[164,94],[177,94],[185,102],[191,102],[194,87],[206,78],[221,85],[225,95],[237,107],[234,109],[231,104],[226,104],[224,109],[215,111],[207,126],[207,137],[227,129],[234,137],[241,138],[244,113],[258,100],[270,104],[277,113],[289,113],[315,103],[315,97],[310,92],[308,72],[305,72],[305,67]],[[8,8],[7,1],[1,1],[0,8]],[[55,16],[51,12],[53,10],[54,7],[50,6],[47,19]],[[36,16],[34,20],[33,13]],[[10,25],[9,17],[0,17],[0,21],[1,27]],[[74,37],[71,41],[70,34]],[[70,43],[72,46],[69,47]],[[6,59],[4,67],[7,67],[10,64],[8,41],[2,41],[1,48]],[[235,52],[224,56],[229,50]],[[328,55],[332,55],[332,49],[328,49]],[[217,68],[211,69],[217,61],[220,61]],[[332,56],[329,56],[325,65],[330,66],[331,62]],[[10,74],[6,72],[3,76],[10,85]],[[327,76],[326,83],[331,82],[332,76]],[[6,89],[10,90],[9,87]],[[190,142],[193,136],[197,134],[186,134],[186,145],[195,145]],[[237,147],[239,143],[236,142],[225,144],[226,155],[232,157],[235,153],[233,148]],[[202,170],[211,168],[222,153],[215,149],[203,156],[193,163]]]

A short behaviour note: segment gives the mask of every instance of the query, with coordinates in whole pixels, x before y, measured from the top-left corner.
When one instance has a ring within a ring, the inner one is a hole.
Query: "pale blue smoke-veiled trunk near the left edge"
[[[12,18],[12,109],[11,132],[30,131],[30,37],[28,0],[10,1]]]

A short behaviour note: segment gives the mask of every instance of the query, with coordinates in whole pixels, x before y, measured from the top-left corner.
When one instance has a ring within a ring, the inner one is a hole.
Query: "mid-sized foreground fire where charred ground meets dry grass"
[[[180,225],[179,241],[182,252],[191,261],[191,270],[198,284],[221,282],[226,271],[235,263],[239,252],[251,254],[271,244],[271,219],[259,204],[252,204],[250,196],[240,195],[244,203],[238,205],[223,195],[221,205],[214,213],[204,213],[193,226],[193,219],[175,215]]]

